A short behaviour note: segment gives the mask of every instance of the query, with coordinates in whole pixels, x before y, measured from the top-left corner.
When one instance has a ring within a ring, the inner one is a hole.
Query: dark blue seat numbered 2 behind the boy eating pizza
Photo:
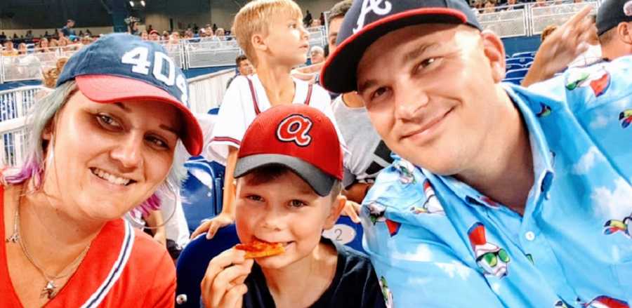
[[[350,230],[353,229],[353,238]],[[333,240],[341,241],[355,250],[362,250],[362,225],[355,224],[347,216],[341,216],[330,234],[334,234]],[[331,239],[329,234],[324,234]],[[178,264],[176,265],[176,307],[199,308],[201,299],[200,283],[204,279],[206,267],[213,257],[219,255],[224,250],[239,243],[237,229],[235,225],[229,225],[218,229],[213,239],[206,239],[206,236],[197,236],[180,253]],[[185,301],[183,301],[185,300]],[[178,302],[180,302],[178,304]]]

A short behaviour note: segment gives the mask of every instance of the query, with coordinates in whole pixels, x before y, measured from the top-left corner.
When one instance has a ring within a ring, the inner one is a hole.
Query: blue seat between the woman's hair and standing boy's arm
[[[202,220],[214,217],[221,211],[224,184],[223,166],[204,159],[192,159],[185,163],[188,178],[181,194],[183,210],[191,232]]]

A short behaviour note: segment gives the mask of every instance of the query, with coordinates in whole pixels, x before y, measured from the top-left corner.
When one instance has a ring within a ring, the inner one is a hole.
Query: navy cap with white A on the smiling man
[[[338,47],[322,68],[322,86],[335,93],[355,91],[357,65],[372,43],[389,32],[424,23],[481,29],[465,0],[354,0],[338,32]]]

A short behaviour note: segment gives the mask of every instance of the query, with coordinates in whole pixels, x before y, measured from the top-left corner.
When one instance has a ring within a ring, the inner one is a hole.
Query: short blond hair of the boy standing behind
[[[303,19],[301,8],[292,0],[254,0],[242,7],[235,15],[232,34],[235,35],[239,47],[254,64],[258,59],[251,43],[252,36],[268,35],[270,18],[282,13],[289,13],[298,20]]]

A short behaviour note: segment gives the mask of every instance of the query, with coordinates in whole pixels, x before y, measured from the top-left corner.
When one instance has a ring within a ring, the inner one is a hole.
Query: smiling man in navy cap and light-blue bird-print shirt
[[[393,307],[632,303],[632,57],[536,93],[501,83],[503,43],[464,1],[358,0],[321,76],[402,158],[361,213]]]

